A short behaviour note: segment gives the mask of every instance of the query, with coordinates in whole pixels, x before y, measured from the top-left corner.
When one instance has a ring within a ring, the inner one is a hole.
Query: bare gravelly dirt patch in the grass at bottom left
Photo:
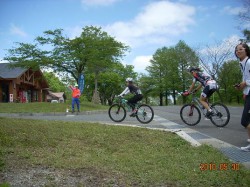
[[[73,170],[43,167],[22,168],[1,172],[0,179],[12,187],[126,186],[118,176],[110,176],[92,168]]]

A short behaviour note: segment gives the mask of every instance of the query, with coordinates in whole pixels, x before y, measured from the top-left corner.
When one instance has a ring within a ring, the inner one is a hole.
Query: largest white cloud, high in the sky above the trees
[[[188,27],[195,24],[194,14],[192,6],[157,1],[144,7],[133,20],[115,22],[104,29],[132,47],[165,44],[169,38],[188,32]]]

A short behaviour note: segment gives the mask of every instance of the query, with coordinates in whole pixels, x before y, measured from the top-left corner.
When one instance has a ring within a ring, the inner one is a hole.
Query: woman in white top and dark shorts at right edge
[[[250,49],[247,44],[240,43],[235,47],[235,56],[240,60],[240,69],[242,72],[242,82],[234,85],[237,90],[243,90],[245,100],[244,109],[241,117],[241,125],[244,126],[248,133],[246,147],[241,147],[243,151],[250,151]]]

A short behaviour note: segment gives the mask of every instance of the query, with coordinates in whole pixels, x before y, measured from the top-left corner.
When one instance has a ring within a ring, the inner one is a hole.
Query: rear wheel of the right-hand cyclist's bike
[[[222,103],[214,103],[211,109],[214,113],[210,118],[211,122],[217,127],[225,127],[230,120],[228,108]]]

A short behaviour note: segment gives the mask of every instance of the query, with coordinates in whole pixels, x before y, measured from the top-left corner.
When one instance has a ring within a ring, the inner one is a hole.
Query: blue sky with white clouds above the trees
[[[15,42],[32,43],[46,30],[61,28],[74,38],[93,25],[129,45],[123,63],[144,72],[158,48],[179,40],[195,48],[242,38],[242,6],[241,0],[0,0],[0,60]]]

